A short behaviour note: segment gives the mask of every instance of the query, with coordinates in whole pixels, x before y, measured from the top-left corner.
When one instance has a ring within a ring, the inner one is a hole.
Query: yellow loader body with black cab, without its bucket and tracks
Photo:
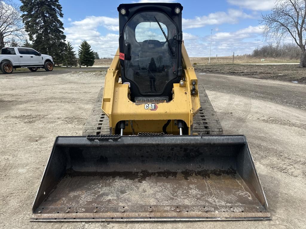
[[[106,75],[102,104],[110,134],[193,133],[200,100],[182,44],[182,10],[179,3],[118,6],[119,52]]]

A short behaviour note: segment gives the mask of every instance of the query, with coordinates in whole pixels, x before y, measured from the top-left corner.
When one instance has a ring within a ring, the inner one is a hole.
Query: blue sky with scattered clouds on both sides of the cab
[[[149,0],[150,1],[150,0]],[[60,0],[67,41],[77,50],[86,39],[100,57],[109,57],[118,47],[120,3],[141,1]],[[152,1],[158,2],[158,1]],[[177,2],[177,1],[162,1]],[[251,53],[265,43],[258,19],[268,12],[274,0],[179,1],[184,9],[183,39],[189,56],[208,56],[212,31],[211,56]]]

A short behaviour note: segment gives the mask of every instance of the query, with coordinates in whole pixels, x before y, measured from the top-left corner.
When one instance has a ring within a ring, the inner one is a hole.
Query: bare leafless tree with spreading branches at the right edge
[[[270,13],[261,16],[266,38],[292,37],[300,47],[300,67],[306,67],[306,0],[276,0]]]

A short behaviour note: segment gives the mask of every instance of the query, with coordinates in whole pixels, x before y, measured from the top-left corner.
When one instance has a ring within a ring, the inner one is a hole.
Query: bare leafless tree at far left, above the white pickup
[[[12,0],[0,0],[0,49],[5,45],[21,45],[25,31],[19,5]]]

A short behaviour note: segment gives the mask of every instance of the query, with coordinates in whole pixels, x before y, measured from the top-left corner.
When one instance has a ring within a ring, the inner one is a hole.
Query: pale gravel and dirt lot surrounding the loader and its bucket
[[[81,135],[105,74],[67,71],[0,74],[0,228],[305,228],[306,85],[199,73],[225,134],[247,136],[272,220],[29,222],[55,137]]]

